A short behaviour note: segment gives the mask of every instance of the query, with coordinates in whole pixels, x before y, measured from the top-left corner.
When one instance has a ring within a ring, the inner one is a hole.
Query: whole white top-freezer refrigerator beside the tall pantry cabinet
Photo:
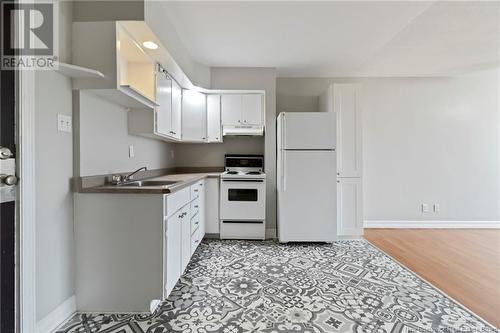
[[[333,242],[337,237],[335,114],[282,112],[277,127],[279,241]]]

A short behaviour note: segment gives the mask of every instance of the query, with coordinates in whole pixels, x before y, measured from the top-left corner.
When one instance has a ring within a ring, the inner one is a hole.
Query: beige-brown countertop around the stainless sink
[[[147,193],[147,194],[168,194],[183,189],[186,186],[192,185],[205,178],[219,178],[220,172],[207,172],[207,173],[178,173],[168,174],[147,180],[166,180],[176,181],[178,183],[173,185],[162,186],[120,186],[120,185],[100,185],[85,187],[80,190],[81,193]],[[141,179],[143,180],[143,179]]]

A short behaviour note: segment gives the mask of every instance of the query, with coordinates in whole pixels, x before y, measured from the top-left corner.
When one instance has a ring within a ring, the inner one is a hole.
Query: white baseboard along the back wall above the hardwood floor
[[[364,227],[394,229],[500,229],[500,221],[365,220]]]

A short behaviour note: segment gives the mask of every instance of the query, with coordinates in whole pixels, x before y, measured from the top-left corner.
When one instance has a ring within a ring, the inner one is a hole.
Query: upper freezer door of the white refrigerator
[[[333,112],[283,112],[278,118],[278,149],[334,149]]]

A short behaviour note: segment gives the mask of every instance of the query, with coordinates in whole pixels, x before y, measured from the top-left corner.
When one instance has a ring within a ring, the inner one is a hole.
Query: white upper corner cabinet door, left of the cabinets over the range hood
[[[207,139],[207,96],[184,89],[182,91],[182,140],[205,142]]]

